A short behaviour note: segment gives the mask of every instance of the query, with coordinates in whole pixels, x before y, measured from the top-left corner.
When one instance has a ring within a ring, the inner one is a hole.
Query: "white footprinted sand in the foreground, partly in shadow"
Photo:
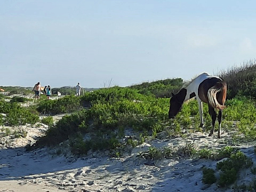
[[[216,135],[209,138],[193,133],[190,137],[198,147],[220,148],[226,144],[219,142],[227,141],[229,135],[217,139]],[[137,156],[138,151],[146,151],[149,146],[185,146],[186,142],[176,138],[143,143],[125,158],[108,158],[107,153],[94,153],[76,159],[54,155],[53,149],[25,151],[23,147],[5,146],[0,149],[0,180],[6,184],[0,185],[0,191],[225,191],[215,184],[209,187],[202,183],[202,167],[214,168],[216,161],[180,158],[154,164]],[[253,147],[242,150],[256,161]],[[250,171],[247,172],[245,180],[253,177]]]

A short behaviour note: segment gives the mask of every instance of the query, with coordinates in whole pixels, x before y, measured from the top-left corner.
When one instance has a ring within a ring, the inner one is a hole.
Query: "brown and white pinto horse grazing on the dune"
[[[185,83],[177,94],[172,93],[172,97],[170,100],[169,118],[174,118],[179,113],[183,102],[196,97],[199,107],[201,127],[204,125],[202,102],[208,104],[209,114],[212,117],[212,129],[209,136],[212,136],[214,132],[214,125],[217,117],[215,109],[219,109],[218,138],[220,138],[222,109],[225,108],[224,103],[226,100],[226,95],[226,82],[222,81],[220,77],[211,76],[207,73],[202,73],[192,79],[190,82]]]

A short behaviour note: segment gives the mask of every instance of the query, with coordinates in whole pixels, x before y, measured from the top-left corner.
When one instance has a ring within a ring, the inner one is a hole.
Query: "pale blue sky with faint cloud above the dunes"
[[[255,59],[255,1],[2,0],[0,86],[129,86]]]

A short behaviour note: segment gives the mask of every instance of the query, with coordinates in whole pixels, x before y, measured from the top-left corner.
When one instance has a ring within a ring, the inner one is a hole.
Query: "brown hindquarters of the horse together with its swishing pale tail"
[[[213,93],[215,94],[217,102],[209,102],[208,98],[208,91],[212,90]],[[218,109],[223,109],[225,108],[224,103],[226,100],[226,94],[227,94],[227,84],[226,82],[221,81],[219,78],[209,78],[205,79],[198,87],[198,97],[205,103],[214,103],[212,107],[218,108]]]

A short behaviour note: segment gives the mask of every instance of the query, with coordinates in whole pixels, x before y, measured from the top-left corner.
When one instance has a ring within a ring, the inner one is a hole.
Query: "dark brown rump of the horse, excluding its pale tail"
[[[223,105],[226,100],[227,95],[227,84],[226,82],[222,81],[220,78],[212,77],[205,79],[202,83],[198,86],[198,97],[201,101],[205,103],[209,103],[207,92],[211,87],[220,88],[221,91],[217,94],[218,102]]]

